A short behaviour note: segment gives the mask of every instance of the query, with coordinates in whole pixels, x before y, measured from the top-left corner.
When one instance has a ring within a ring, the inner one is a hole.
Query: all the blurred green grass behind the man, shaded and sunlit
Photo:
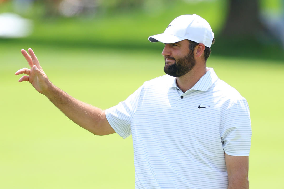
[[[278,1],[272,2],[277,7]],[[34,19],[30,37],[0,39],[0,188],[134,188],[131,137],[95,136],[28,82],[18,83],[20,77],[14,73],[28,67],[20,49],[33,48],[56,86],[107,109],[146,80],[164,75],[163,44],[150,43],[147,37],[163,32],[176,16],[192,13],[206,18],[217,36],[207,66],[250,106],[250,188],[281,188],[283,50],[244,45],[232,53],[233,45],[218,45],[226,1],[163,8],[157,14],[133,11],[91,20]]]

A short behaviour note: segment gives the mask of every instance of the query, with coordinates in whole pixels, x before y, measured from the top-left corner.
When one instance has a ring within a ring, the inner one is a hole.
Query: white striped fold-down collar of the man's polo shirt
[[[198,82],[191,89],[207,91],[212,86],[212,84],[217,81],[218,76],[214,72],[214,69],[207,69],[209,70],[198,80]],[[176,77],[172,77],[172,82],[168,83],[168,88],[178,88],[178,85],[176,83]]]

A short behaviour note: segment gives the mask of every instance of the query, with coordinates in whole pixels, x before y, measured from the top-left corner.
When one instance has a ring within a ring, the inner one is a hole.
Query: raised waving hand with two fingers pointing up
[[[47,75],[44,73],[43,69],[41,68],[39,61],[37,60],[36,55],[34,54],[31,48],[28,49],[29,54],[22,49],[22,54],[28,61],[31,69],[22,68],[16,71],[15,75],[19,74],[27,74],[22,76],[19,79],[19,82],[28,81],[34,86],[34,88],[41,94],[46,94],[49,90],[49,87],[52,83],[49,81]]]

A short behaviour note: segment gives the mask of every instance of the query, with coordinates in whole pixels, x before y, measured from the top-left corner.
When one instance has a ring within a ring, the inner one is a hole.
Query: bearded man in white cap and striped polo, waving
[[[66,116],[95,135],[132,135],[135,188],[249,188],[249,107],[206,67],[214,34],[197,16],[175,18],[149,41],[165,44],[167,75],[145,82],[105,111],[54,86],[32,49],[22,54],[29,81]]]

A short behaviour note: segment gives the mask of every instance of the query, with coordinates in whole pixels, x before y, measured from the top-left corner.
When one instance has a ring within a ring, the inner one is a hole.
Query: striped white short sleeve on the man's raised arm
[[[131,120],[137,109],[142,86],[131,94],[125,101],[106,110],[106,119],[118,135],[124,139],[131,135]]]

